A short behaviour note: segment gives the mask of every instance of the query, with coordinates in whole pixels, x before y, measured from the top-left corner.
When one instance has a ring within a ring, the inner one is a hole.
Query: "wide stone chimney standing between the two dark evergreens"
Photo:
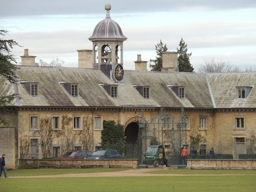
[[[166,72],[179,72],[178,68],[178,53],[175,51],[168,51],[162,53],[162,69]]]

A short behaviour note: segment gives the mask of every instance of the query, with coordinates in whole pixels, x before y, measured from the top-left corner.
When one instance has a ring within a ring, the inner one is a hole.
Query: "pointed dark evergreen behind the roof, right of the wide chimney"
[[[189,61],[189,57],[192,55],[192,53],[187,53],[187,44],[185,44],[185,41],[182,38],[179,46],[180,46],[180,49],[177,48],[177,52],[179,54],[179,57],[178,57],[179,72],[194,72],[194,68]]]

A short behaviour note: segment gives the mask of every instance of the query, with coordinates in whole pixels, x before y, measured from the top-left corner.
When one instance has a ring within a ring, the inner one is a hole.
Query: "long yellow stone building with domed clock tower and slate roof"
[[[53,144],[70,138],[100,145],[103,120],[114,120],[124,125],[127,142],[135,143],[142,115],[149,122],[161,108],[176,119],[184,109],[188,144],[189,135],[199,133],[208,143],[239,141],[246,153],[256,131],[256,73],[178,72],[176,52],[163,54],[161,72],[147,71],[141,55],[136,70],[124,70],[127,38],[111,19],[110,6],[105,9],[105,19],[89,38],[93,49],[78,50],[78,68],[35,66],[35,56],[25,49],[17,83],[1,77],[0,93],[17,94],[1,113],[10,121],[0,128],[0,153],[8,165],[18,166],[20,145],[48,139],[47,127]],[[169,145],[165,136],[163,144]]]

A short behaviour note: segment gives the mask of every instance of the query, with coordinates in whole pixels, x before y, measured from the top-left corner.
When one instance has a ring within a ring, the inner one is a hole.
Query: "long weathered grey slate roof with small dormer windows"
[[[2,95],[17,93],[14,106],[45,107],[173,107],[218,108],[256,107],[256,73],[179,73],[124,71],[124,84],[116,84],[117,98],[111,98],[102,84],[114,85],[97,69],[18,66],[18,83],[0,80]],[[38,82],[38,97],[31,97],[22,82]],[[59,83],[75,83],[79,97],[72,98]],[[150,99],[134,87],[149,86]],[[168,85],[184,86],[186,99],[180,99]],[[252,86],[246,99],[237,99],[236,86]]]

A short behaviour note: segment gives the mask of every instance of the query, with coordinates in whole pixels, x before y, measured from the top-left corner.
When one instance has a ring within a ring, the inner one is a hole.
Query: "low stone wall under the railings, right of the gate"
[[[256,170],[256,160],[187,160],[188,169]]]

